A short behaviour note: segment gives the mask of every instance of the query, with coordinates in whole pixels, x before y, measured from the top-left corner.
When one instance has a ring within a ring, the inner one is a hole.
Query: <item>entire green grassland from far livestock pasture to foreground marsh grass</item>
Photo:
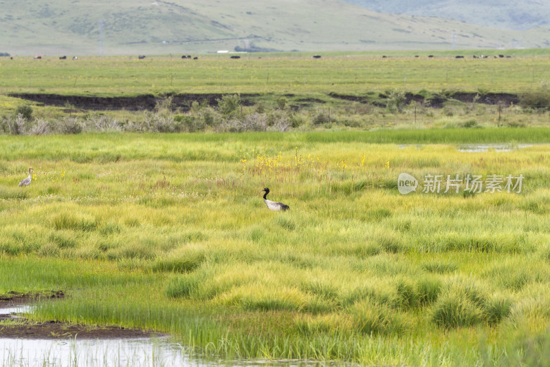
[[[0,128],[19,120],[21,130],[3,134],[25,135],[0,135],[0,294],[63,290],[32,317],[153,329],[228,359],[544,361],[547,106],[450,98],[441,108],[392,109],[384,100],[399,92],[544,96],[549,54],[434,54],[1,59]],[[17,93],[254,96],[227,111],[223,103],[173,109],[166,98],[152,112],[90,112],[8,96]],[[29,120],[17,116],[23,105],[32,106]],[[143,133],[181,131],[166,121],[207,115],[217,125],[206,133]],[[291,131],[213,134],[241,131],[223,127],[252,118],[265,129],[283,120]],[[52,121],[85,133],[25,129]],[[109,127],[74,129],[84,122]],[[165,125],[144,127],[154,123]],[[487,151],[464,151],[472,144]],[[17,187],[28,167],[32,184]],[[468,193],[463,182],[459,193],[404,196],[402,172],[419,180],[522,175],[523,185]],[[263,187],[290,210],[269,211]]]

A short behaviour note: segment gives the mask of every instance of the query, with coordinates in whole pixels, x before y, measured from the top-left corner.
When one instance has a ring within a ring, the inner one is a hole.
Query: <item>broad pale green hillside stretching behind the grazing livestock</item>
[[[545,28],[496,30],[442,18],[385,14],[340,0],[0,0],[0,4],[0,52],[12,55],[550,46]]]

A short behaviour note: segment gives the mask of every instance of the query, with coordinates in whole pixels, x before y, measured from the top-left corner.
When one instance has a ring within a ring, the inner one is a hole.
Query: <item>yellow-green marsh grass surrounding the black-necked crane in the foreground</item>
[[[537,143],[536,131],[494,136]],[[32,317],[152,328],[228,358],[542,353],[550,146],[370,134],[1,136],[0,293],[63,289]],[[36,179],[17,187],[28,167]],[[401,172],[524,179],[520,193],[401,195]],[[267,209],[263,187],[290,210]]]

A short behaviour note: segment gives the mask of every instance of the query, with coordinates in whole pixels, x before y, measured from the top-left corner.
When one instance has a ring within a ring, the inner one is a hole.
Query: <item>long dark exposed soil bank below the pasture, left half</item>
[[[191,103],[197,101],[206,103],[210,106],[217,106],[217,100],[224,94],[167,94],[166,96],[153,96],[153,94],[143,94],[135,97],[98,97],[98,96],[64,96],[61,94],[10,94],[15,98],[26,99],[43,103],[49,106],[74,106],[78,109],[91,110],[113,110],[127,109],[129,111],[153,110],[157,102],[164,100],[167,96],[172,97],[173,107],[183,111],[190,109]],[[259,94],[241,94],[241,103],[245,106],[254,105],[253,101],[248,98],[259,96]]]

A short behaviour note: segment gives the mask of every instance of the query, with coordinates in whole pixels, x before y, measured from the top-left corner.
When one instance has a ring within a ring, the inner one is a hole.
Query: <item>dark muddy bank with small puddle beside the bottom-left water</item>
[[[67,322],[35,322],[25,318],[22,306],[36,304],[39,300],[64,297],[63,291],[47,295],[21,295],[11,293],[0,297],[0,339],[135,339],[162,337],[160,333],[141,331],[117,326],[85,326]],[[17,310],[17,311],[16,311]]]

